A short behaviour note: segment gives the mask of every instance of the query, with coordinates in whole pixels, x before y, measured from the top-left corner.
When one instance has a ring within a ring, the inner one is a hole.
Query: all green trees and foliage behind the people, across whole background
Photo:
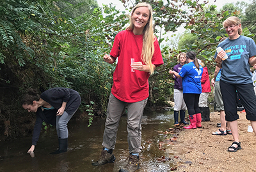
[[[141,1],[132,2],[122,1],[127,11]],[[197,38],[189,42],[182,36],[184,43],[179,43],[179,49],[162,48],[164,65],[150,76],[147,106],[163,106],[172,97],[173,81],[168,70],[177,64],[176,55],[194,50],[199,59],[214,66],[214,49],[225,36],[221,23],[230,15],[241,13],[237,8],[216,11],[216,6],[198,4],[195,0],[147,2],[154,9],[159,43],[163,41],[162,29],[177,31],[182,24],[193,34],[187,36],[189,39]],[[248,8],[245,13],[253,18],[253,11]],[[241,15],[246,18],[244,16]],[[253,32],[255,25],[250,18],[244,23],[250,25]],[[39,92],[52,87],[75,89],[82,98],[79,117],[104,116],[115,64],[104,62],[102,57],[110,52],[115,35],[125,29],[128,22],[127,12],[116,10],[112,4],[99,8],[95,0],[1,1],[0,136],[14,138],[31,134],[34,114],[24,111],[19,103],[29,87]],[[247,31],[247,36],[253,36]]]

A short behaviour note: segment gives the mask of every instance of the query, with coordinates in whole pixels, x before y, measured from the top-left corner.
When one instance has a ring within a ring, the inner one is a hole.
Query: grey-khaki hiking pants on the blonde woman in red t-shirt
[[[103,135],[102,146],[108,149],[114,149],[116,144],[116,133],[119,120],[127,106],[127,140],[129,145],[129,153],[141,152],[141,119],[143,110],[147,104],[147,99],[136,103],[125,103],[116,99],[113,94],[109,96],[107,118],[105,123],[105,131]]]

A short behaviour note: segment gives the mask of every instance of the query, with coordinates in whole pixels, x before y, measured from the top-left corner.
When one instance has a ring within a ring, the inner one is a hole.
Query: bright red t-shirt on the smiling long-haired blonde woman
[[[143,34],[134,35],[132,31],[121,31],[116,34],[115,41],[110,52],[113,57],[118,57],[115,72],[113,74],[113,87],[111,93],[120,101],[134,103],[147,99],[148,77],[150,73],[144,71],[131,71],[131,58],[134,62],[142,62],[141,51],[143,46]],[[152,64],[160,66],[163,57],[158,44],[154,41],[155,52]]]

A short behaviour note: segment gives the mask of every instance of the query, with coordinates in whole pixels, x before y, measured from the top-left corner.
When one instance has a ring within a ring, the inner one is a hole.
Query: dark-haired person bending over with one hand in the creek
[[[40,136],[43,121],[56,125],[59,148],[50,154],[67,152],[68,128],[67,123],[73,117],[81,103],[81,97],[76,90],[67,88],[53,88],[45,90],[41,95],[36,90],[29,89],[21,100],[22,107],[29,112],[36,112],[36,122],[33,131],[32,145],[28,153],[35,150]]]

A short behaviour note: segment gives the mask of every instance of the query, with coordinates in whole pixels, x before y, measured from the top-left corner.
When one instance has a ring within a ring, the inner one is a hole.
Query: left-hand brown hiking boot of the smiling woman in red
[[[104,150],[104,148],[101,151],[100,159],[97,162],[93,162],[93,166],[100,166],[107,163],[113,163],[115,162],[116,157],[113,154],[113,150]]]

